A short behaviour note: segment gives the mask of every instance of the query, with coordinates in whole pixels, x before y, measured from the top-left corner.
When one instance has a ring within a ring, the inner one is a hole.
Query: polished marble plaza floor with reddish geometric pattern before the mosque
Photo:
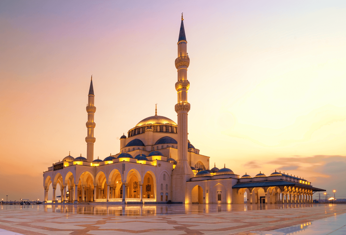
[[[345,235],[346,205],[3,205],[0,235]]]

